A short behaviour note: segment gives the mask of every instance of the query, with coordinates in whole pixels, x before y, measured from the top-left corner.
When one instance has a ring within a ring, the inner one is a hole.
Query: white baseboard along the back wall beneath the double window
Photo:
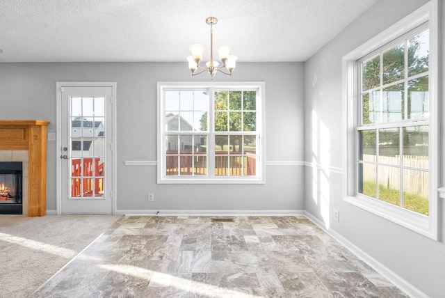
[[[116,215],[292,216],[304,210],[116,210]]]

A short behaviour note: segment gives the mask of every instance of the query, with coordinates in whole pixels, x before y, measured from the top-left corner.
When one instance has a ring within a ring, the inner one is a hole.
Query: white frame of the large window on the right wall
[[[357,49],[343,56],[343,200],[380,217],[414,230],[421,235],[439,240],[439,2],[432,0],[401,19],[387,30],[371,38]],[[361,107],[359,107],[359,59],[390,44],[405,33],[428,23],[430,29],[429,95],[430,95],[430,137],[429,137],[429,177],[430,208],[425,216],[403,207],[391,205],[375,198],[369,198],[357,191],[358,134]]]

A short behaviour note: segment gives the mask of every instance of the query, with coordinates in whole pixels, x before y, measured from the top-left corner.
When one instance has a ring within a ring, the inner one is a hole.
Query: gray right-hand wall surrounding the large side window
[[[341,197],[341,58],[426,2],[376,2],[305,63],[305,160],[319,165],[318,169],[306,169],[305,210],[430,297],[444,297],[443,242],[435,242],[344,203]],[[444,10],[442,6],[442,16]],[[442,33],[445,33],[444,24]],[[441,70],[444,72],[443,64]],[[444,98],[443,95],[440,98]],[[442,168],[444,166],[442,162]],[[441,184],[445,185],[443,181]],[[340,211],[339,223],[332,218],[333,209]]]

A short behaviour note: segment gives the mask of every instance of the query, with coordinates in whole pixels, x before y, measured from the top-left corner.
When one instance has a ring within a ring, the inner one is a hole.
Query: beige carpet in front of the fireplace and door
[[[29,297],[119,216],[0,215],[0,297]]]

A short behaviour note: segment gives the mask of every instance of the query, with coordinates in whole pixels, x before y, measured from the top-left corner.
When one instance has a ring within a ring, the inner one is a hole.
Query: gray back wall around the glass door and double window
[[[56,132],[56,81],[117,83],[118,210],[302,210],[304,189],[303,63],[238,63],[232,77],[265,81],[266,185],[157,185],[156,81],[209,81],[191,77],[184,63],[2,63],[0,118],[49,120]],[[134,133],[134,127],[140,127]],[[130,133],[131,132],[131,133]],[[48,142],[47,209],[56,210],[56,142]],[[154,203],[147,203],[147,192]]]

